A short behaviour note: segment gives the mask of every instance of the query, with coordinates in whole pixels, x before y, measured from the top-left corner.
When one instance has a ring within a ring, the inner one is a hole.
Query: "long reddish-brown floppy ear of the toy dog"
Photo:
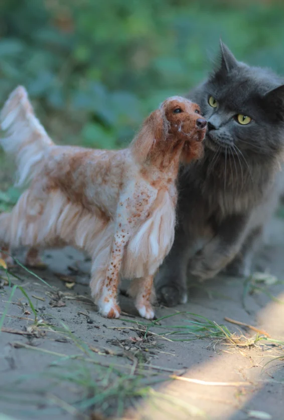
[[[144,163],[149,158],[155,144],[165,137],[166,127],[163,112],[157,109],[146,118],[131,144],[131,151],[136,162]]]

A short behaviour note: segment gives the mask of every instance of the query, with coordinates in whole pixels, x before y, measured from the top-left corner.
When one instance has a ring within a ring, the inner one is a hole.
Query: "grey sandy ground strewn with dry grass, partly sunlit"
[[[256,270],[269,270],[281,280],[284,279],[283,238],[284,221],[274,219],[271,223],[270,243],[260,252],[256,261]],[[159,373],[158,379],[175,372],[183,372],[185,378],[207,381],[205,384],[199,384],[171,380],[155,385],[154,389],[159,393],[150,392],[144,400],[138,400],[139,405],[135,409],[129,407],[124,410],[124,418],[284,419],[284,359],[277,359],[266,365],[274,356],[284,355],[284,347],[280,350],[277,345],[266,346],[265,341],[259,342],[258,346],[249,347],[237,347],[212,339],[174,342],[153,335],[143,341],[141,337],[143,338],[144,333],[139,332],[139,328],[143,327],[134,323],[143,320],[137,316],[129,298],[121,295],[120,303],[122,311],[132,314],[132,317],[124,315],[120,320],[106,320],[96,312],[89,301],[83,302],[82,297],[89,297],[86,284],[90,263],[85,261],[82,254],[66,248],[46,251],[44,259],[48,269],[37,270],[36,273],[55,289],[42,284],[23,268],[13,271],[22,279],[12,278],[13,284],[25,287],[37,309],[38,320],[43,319],[52,324],[53,329],[61,328],[64,323],[76,339],[93,350],[92,354],[97,363],[95,367],[120,364],[126,366],[125,369],[130,375],[135,375],[137,362],[144,362],[149,373]],[[70,270],[68,266],[77,267],[79,271]],[[55,273],[69,277],[62,277],[65,279],[63,281]],[[3,275],[5,277],[4,271]],[[67,288],[66,279],[74,279],[75,285],[72,289]],[[3,314],[6,309],[8,312],[3,332],[0,334],[0,412],[14,419],[76,418],[78,412],[73,402],[82,398],[77,385],[69,383],[63,386],[63,381],[60,380],[57,384],[50,384],[50,377],[40,372],[48,371],[54,361],[64,361],[64,358],[68,359],[68,355],[81,353],[78,343],[76,346],[74,339],[70,340],[64,334],[44,331],[48,328],[43,328],[40,324],[39,328],[31,327],[34,324],[34,316],[30,306],[25,304],[28,303],[27,298],[17,289],[12,302],[7,303],[11,289],[4,281],[2,285],[0,312]],[[55,290],[61,291],[63,295],[58,295]],[[284,302],[284,284],[270,286],[267,290]],[[243,333],[246,337],[256,334],[255,331],[224,321],[225,317],[229,317],[264,330],[273,339],[284,340],[284,304],[270,299],[264,293],[254,293],[246,297],[245,309],[242,305],[243,292],[243,279],[216,278],[200,288],[192,289],[187,305],[180,305],[174,309],[157,307],[156,315],[160,318],[176,311],[190,311],[218,324],[224,324],[230,331]],[[163,327],[186,325],[189,319],[194,317],[179,314],[161,321],[161,324]],[[131,329],[132,327],[134,329]],[[15,334],[15,330],[19,334]],[[167,329],[154,327],[151,331],[159,334]],[[68,360],[71,361],[71,367],[68,368],[70,373],[79,362],[70,358]],[[165,370],[147,366],[160,366]],[[87,373],[88,369],[91,368],[87,368]],[[108,372],[104,371],[102,379],[106,381],[107,375]],[[22,379],[22,382],[19,379]],[[147,379],[142,380],[148,383]],[[226,384],[212,385],[208,381]],[[85,386],[85,389],[87,398],[90,395],[90,386]],[[124,402],[127,407],[126,396]],[[94,407],[96,409],[96,404]],[[100,406],[100,411],[104,411],[105,416],[110,412],[107,405]],[[0,419],[2,418],[5,417],[1,417],[0,414]],[[99,420],[104,417],[91,417],[87,414],[82,418]]]

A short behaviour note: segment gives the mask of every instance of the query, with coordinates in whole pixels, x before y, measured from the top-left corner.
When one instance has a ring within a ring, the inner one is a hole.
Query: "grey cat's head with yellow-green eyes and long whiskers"
[[[247,158],[273,157],[284,149],[283,81],[238,62],[220,46],[219,66],[191,95],[208,121],[205,147]]]

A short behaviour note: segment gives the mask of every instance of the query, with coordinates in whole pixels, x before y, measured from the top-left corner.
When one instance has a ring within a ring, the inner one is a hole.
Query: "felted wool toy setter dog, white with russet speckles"
[[[198,105],[166,99],[118,151],[56,146],[21,86],[0,122],[7,131],[0,143],[16,158],[18,185],[29,182],[13,210],[0,215],[2,249],[28,246],[29,265],[40,261],[42,248],[82,249],[92,258],[91,294],[101,314],[119,317],[122,275],[132,280],[129,293],[140,316],[152,319],[153,277],[174,240],[179,165],[203,152],[206,120]]]

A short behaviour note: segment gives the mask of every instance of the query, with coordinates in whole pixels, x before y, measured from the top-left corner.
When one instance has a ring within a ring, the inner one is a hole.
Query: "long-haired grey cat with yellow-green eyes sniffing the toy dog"
[[[284,85],[238,62],[221,43],[221,62],[190,93],[208,120],[205,154],[181,169],[173,248],[156,278],[168,306],[187,302],[187,273],[206,279],[226,268],[247,275],[284,179]],[[188,271],[187,271],[188,270]]]

